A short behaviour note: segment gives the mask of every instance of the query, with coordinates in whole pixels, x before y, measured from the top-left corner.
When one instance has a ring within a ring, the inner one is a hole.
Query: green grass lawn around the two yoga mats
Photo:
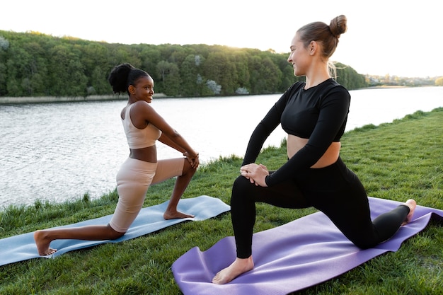
[[[368,195],[443,209],[443,108],[415,112],[401,120],[347,132],[341,156],[365,185]],[[284,142],[258,161],[275,169],[285,161]],[[183,197],[210,195],[229,204],[241,158],[219,158],[197,170]],[[173,180],[149,189],[145,206],[168,200]],[[112,214],[115,192],[101,199],[62,204],[35,202],[0,212],[0,238]],[[280,209],[258,204],[255,231],[280,226],[315,209]],[[230,214],[185,222],[140,238],[76,250],[55,259],[0,267],[0,294],[181,294],[171,272],[190,248],[207,250],[232,236]],[[425,230],[386,253],[328,282],[295,294],[443,294],[443,228]]]

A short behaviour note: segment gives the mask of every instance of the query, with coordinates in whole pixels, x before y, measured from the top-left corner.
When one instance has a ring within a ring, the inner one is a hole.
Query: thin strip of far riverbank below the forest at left
[[[164,93],[155,93],[154,98],[167,98]],[[72,97],[56,97],[56,96],[39,96],[39,97],[0,97],[0,105],[13,105],[19,103],[70,103],[78,101],[107,101],[107,100],[127,100],[124,94],[114,94],[110,96],[72,96]]]

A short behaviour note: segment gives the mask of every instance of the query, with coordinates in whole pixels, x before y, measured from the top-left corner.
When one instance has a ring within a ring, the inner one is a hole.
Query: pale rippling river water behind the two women
[[[417,110],[443,106],[443,87],[350,91],[347,130],[392,122]],[[207,163],[243,156],[255,126],[280,95],[157,98],[152,106]],[[125,100],[0,105],[0,210],[36,199],[63,202],[115,189],[128,155],[120,122]],[[443,123],[443,122],[442,122]],[[277,127],[265,146],[280,146]],[[158,144],[159,158],[181,156]]]

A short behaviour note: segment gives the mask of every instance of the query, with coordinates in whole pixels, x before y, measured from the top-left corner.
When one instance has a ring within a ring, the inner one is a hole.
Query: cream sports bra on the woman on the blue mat
[[[160,138],[161,131],[152,124],[148,124],[144,129],[139,129],[132,124],[130,110],[132,104],[128,105],[125,111],[125,119],[122,119],[123,129],[125,129],[127,144],[130,149],[142,149],[154,146],[156,140]]]

